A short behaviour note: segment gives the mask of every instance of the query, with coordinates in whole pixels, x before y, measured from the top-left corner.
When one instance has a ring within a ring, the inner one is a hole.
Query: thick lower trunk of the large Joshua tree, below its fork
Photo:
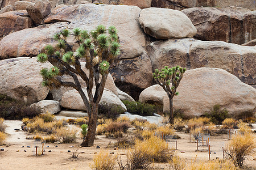
[[[81,143],[81,146],[93,146],[94,138],[96,135],[97,128],[97,117],[98,117],[98,104],[92,104],[92,112],[89,120],[88,132],[85,140]]]

